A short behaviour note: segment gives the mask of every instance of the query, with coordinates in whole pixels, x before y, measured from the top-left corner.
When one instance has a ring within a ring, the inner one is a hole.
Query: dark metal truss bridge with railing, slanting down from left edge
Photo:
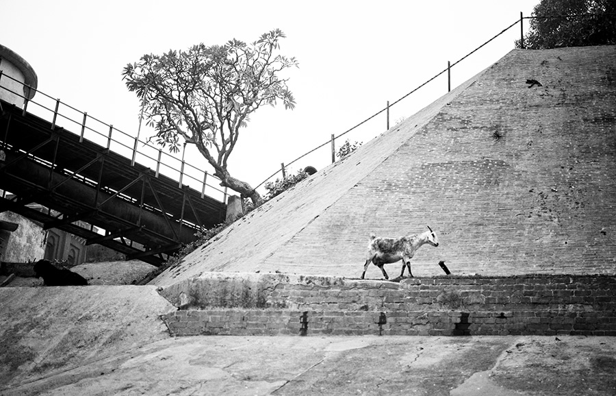
[[[207,184],[207,172],[194,167],[191,172],[183,157],[179,160],[138,138],[127,138],[60,99],[53,99],[49,107],[25,97],[24,102],[19,108],[0,100],[0,189],[4,190],[0,212],[10,210],[42,223],[46,230],[64,230],[85,238],[86,245],[97,243],[124,253],[127,260],[156,266],[182,244],[195,240],[198,230],[224,221],[227,190]],[[51,121],[31,114],[28,106],[49,112]],[[61,113],[60,106],[66,112]],[[71,112],[78,116],[66,115]],[[57,125],[59,121],[73,123],[81,133],[69,132]],[[107,133],[101,134],[94,125],[98,129],[102,125]],[[132,144],[122,143],[118,136]],[[168,158],[162,160],[163,155]],[[177,166],[170,165],[173,161]],[[184,185],[186,180],[201,186],[201,191]],[[205,195],[206,189],[222,196],[222,201]],[[31,203],[47,210],[36,210]]]

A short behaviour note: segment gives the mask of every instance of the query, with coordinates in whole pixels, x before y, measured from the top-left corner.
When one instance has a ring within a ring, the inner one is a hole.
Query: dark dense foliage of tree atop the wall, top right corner
[[[541,0],[532,16],[527,49],[616,44],[614,0]],[[515,47],[522,47],[520,40]]]

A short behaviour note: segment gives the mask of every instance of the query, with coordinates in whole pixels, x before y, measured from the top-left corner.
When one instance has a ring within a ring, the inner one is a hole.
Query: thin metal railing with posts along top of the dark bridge
[[[36,100],[27,99],[22,93],[14,92],[10,88],[3,86],[1,84],[2,79],[11,79],[13,82],[21,84],[27,91],[34,90],[34,92],[39,95]],[[72,125],[79,130],[78,135],[80,143],[84,141],[84,139],[96,143],[101,147],[110,149],[110,151],[131,160],[131,166],[138,163],[152,169],[155,171],[155,177],[162,174],[170,177],[172,180],[177,180],[178,188],[181,188],[183,185],[189,186],[201,192],[202,198],[207,195],[222,203],[227,203],[229,188],[225,187],[221,190],[216,186],[212,186],[209,182],[211,182],[212,179],[214,179],[214,183],[220,182],[218,177],[186,162],[186,145],[184,145],[183,150],[181,150],[181,158],[172,156],[161,148],[155,147],[146,141],[139,140],[138,137],[120,131],[120,129],[117,129],[113,125],[107,124],[91,116],[87,112],[81,112],[81,110],[77,110],[77,108],[60,101],[60,99],[53,99],[53,97],[44,92],[27,86],[10,75],[3,74],[2,71],[0,71],[0,88],[23,99],[23,115],[31,111],[33,106],[36,106],[35,110],[39,111],[36,111],[36,114],[32,114],[51,122],[52,129],[60,125]],[[41,112],[43,113],[42,116],[40,114]],[[44,114],[47,114],[47,116]],[[71,130],[72,128],[70,126],[63,128],[77,135],[77,133]]]

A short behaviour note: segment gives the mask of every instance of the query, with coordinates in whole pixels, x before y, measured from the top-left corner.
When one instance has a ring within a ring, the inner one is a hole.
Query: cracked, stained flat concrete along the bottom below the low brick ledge
[[[614,395],[616,338],[168,338],[12,395]]]

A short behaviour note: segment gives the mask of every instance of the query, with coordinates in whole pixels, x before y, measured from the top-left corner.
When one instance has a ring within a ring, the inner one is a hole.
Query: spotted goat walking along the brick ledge
[[[383,271],[385,279],[389,279],[383,266],[402,260],[400,277],[405,275],[405,265],[409,269],[409,275],[413,277],[413,273],[411,273],[411,258],[415,255],[415,251],[425,243],[429,243],[434,247],[439,245],[439,240],[429,225],[428,230],[419,235],[402,236],[402,238],[377,238],[374,234],[370,234],[368,255],[366,256],[365,264],[363,264],[361,279],[363,279],[371,261]]]

